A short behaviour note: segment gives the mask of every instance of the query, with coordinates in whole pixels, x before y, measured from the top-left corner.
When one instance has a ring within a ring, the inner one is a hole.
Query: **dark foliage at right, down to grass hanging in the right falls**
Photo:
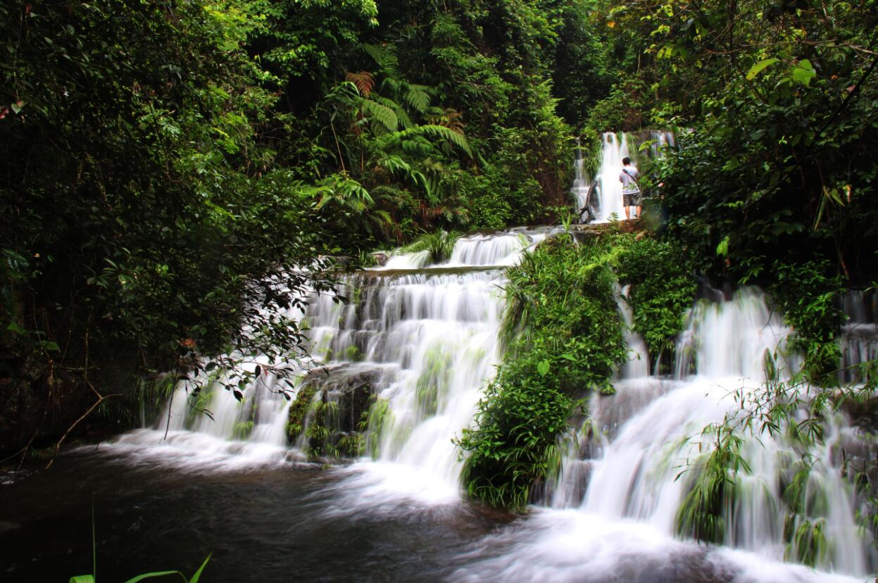
[[[794,329],[788,349],[804,356],[798,372],[778,370],[787,355],[766,358],[766,385],[742,393],[742,411],[715,428],[687,481],[680,531],[719,540],[742,471],[738,443],[783,434],[802,452],[781,485],[789,556],[814,565],[824,518],[796,501],[815,487],[807,452],[824,421],[869,399],[875,380],[865,365],[865,385],[838,386],[837,337],[840,292],[872,284],[876,268],[878,11],[874,2],[670,0],[612,13],[651,42],[637,75],[652,93],[644,116],[687,128],[680,152],[656,169],[667,240],[714,280],[762,284]],[[867,473],[854,479],[874,496]]]

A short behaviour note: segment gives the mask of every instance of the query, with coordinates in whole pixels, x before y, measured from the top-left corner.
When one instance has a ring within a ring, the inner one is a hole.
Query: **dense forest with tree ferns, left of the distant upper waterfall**
[[[300,354],[295,321],[277,314],[306,276],[329,289],[320,256],[566,205],[556,96],[575,121],[609,83],[601,51],[585,81],[603,85],[576,83],[579,49],[563,42],[595,46],[592,7],[0,7],[6,447],[38,436],[40,419],[58,435],[65,418],[106,410],[104,395],[136,405],[127,387],[144,372],[194,378],[196,355],[234,369],[240,392],[250,354]]]

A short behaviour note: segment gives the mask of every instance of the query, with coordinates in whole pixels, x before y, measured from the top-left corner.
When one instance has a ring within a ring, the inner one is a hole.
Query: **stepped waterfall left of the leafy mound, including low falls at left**
[[[427,251],[390,254],[384,265],[344,278],[337,292],[347,303],[314,294],[304,313],[291,314],[310,328],[313,349],[299,392],[316,387],[308,399],[313,394],[332,406],[335,429],[364,431],[364,453],[396,464],[394,479],[407,469],[441,484],[446,499],[459,500],[452,438],[470,425],[498,361],[504,270],[552,230],[467,235],[443,263],[431,263]],[[256,363],[264,362],[250,366]],[[275,383],[263,375],[241,402],[219,385],[208,386],[198,403],[180,385],[155,429],[122,435],[117,445],[155,446],[165,457],[173,449],[182,461],[197,450],[199,463],[212,456],[236,464],[304,460],[313,414],[290,448],[291,404]]]

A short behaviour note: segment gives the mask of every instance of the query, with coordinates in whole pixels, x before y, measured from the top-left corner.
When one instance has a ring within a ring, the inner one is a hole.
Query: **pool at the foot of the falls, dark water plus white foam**
[[[90,573],[92,508],[101,583],[152,571],[190,576],[208,555],[203,583],[866,580],[578,508],[513,517],[399,464],[329,467],[295,455],[104,444],[68,451],[48,471],[0,474],[0,580],[66,583]]]

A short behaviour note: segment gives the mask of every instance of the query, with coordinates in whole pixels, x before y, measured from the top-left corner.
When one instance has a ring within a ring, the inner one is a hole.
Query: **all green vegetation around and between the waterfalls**
[[[328,256],[356,266],[408,243],[438,260],[464,230],[554,220],[573,133],[674,127],[680,151],[642,168],[661,186],[660,238],[561,237],[509,271],[507,358],[460,445],[471,495],[521,507],[578,399],[612,390],[625,358],[615,283],[631,285],[635,328],[664,363],[694,263],[761,284],[805,363],[781,382],[784,355],[766,359],[764,390],[711,428],[678,518],[681,533],[718,540],[744,432],[793,432],[807,450],[826,417],[874,389],[874,363],[857,390],[835,369],[838,294],[878,269],[876,8],[0,5],[0,449],[62,440],[92,412],[123,427],[156,399],[141,380],[159,371],[171,371],[164,390],[186,379],[196,413],[209,395],[195,373],[241,398],[266,371],[256,354],[302,355],[292,314],[302,292],[335,289]],[[353,421],[349,443],[330,439],[337,412],[312,400],[292,407],[291,433],[315,453],[375,451]],[[385,411],[378,400],[370,427]],[[790,467],[788,540],[813,563],[819,524],[798,494],[810,465]],[[874,496],[869,469],[856,479]]]

